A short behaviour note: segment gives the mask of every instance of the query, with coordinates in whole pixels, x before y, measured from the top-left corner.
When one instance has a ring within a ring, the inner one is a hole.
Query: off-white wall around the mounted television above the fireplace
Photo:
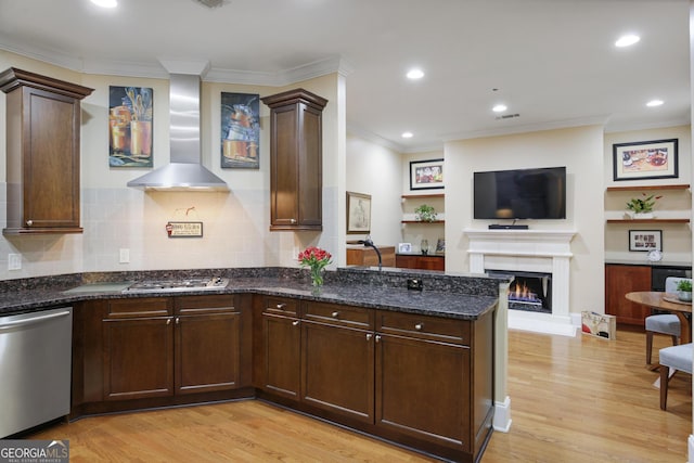
[[[604,311],[602,127],[588,126],[449,142],[446,162],[446,270],[470,268],[465,228],[473,220],[473,172],[566,166],[567,219],[527,220],[531,229],[576,230],[571,242],[569,311]]]

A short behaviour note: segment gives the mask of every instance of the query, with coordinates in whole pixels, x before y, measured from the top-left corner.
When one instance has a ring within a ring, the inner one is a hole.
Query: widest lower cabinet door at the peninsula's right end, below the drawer
[[[468,347],[377,335],[375,366],[376,425],[471,450]]]

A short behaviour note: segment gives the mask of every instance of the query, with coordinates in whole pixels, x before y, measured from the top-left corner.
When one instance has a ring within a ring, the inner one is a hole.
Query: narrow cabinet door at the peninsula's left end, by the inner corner
[[[262,314],[265,342],[262,388],[298,400],[300,387],[300,322],[295,317]]]

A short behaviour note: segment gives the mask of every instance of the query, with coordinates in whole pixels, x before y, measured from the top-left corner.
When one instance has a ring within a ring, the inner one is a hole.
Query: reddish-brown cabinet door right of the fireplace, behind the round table
[[[625,298],[632,291],[651,291],[651,267],[605,266],[605,312],[618,323],[644,326],[651,309]]]

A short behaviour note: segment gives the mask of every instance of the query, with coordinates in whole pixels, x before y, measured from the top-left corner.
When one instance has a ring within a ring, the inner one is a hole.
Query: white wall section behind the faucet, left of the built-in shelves
[[[346,191],[371,195],[371,239],[376,245],[397,246],[402,240],[400,171],[398,152],[347,134]],[[363,237],[347,235],[347,240]]]

